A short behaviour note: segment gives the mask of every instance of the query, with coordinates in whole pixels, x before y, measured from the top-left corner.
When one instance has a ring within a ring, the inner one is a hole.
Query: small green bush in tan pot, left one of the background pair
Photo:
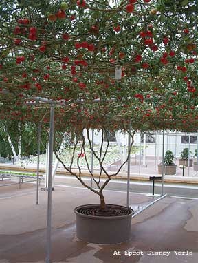
[[[164,156],[164,174],[173,175],[176,174],[177,165],[173,162],[174,155],[172,151],[166,151]],[[162,163],[158,165],[158,173],[162,174]]]

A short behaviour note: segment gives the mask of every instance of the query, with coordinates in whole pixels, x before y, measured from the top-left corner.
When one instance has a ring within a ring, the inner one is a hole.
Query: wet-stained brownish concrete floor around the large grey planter
[[[35,187],[0,187],[0,263],[45,262],[47,192],[40,193],[41,204],[36,206]],[[126,204],[126,193],[105,191],[104,195],[109,203]],[[73,212],[80,204],[98,202],[97,196],[87,189],[56,187],[52,198],[53,263],[198,261],[198,200],[166,197],[133,218],[130,242],[100,245],[76,238]],[[130,195],[130,203],[135,207],[152,200],[144,195]],[[136,255],[129,257],[125,255],[129,254],[127,251]],[[162,251],[164,255],[156,255]],[[174,251],[192,255],[175,255]],[[116,253],[120,255],[113,255]]]

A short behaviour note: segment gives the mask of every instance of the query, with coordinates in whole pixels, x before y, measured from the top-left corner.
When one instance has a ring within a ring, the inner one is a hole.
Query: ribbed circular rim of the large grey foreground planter
[[[74,209],[74,213],[76,213],[76,215],[80,215],[83,218],[98,219],[98,220],[119,220],[119,219],[131,217],[135,213],[133,209],[131,209],[131,207],[124,207],[123,205],[119,205],[119,204],[107,204],[107,205],[113,206],[113,207],[121,207],[121,208],[123,207],[124,209],[129,209],[131,213],[129,213],[128,215],[98,216],[98,215],[84,215],[83,213],[79,213],[77,211],[79,208],[82,209],[82,207],[94,207],[94,206],[100,206],[100,204],[80,205]]]

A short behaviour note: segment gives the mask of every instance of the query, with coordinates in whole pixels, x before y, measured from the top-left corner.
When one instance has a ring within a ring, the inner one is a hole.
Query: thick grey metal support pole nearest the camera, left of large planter
[[[51,263],[51,232],[52,232],[52,165],[54,147],[54,105],[50,109],[50,143],[48,165],[48,198],[47,198],[47,255],[46,263]]]

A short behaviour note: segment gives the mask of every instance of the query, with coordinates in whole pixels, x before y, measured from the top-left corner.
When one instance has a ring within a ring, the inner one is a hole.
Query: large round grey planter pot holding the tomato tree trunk
[[[92,215],[100,204],[85,204],[76,207],[77,238],[89,243],[118,244],[129,241],[131,237],[131,216],[134,211],[116,204],[107,207],[120,211],[118,215]]]

